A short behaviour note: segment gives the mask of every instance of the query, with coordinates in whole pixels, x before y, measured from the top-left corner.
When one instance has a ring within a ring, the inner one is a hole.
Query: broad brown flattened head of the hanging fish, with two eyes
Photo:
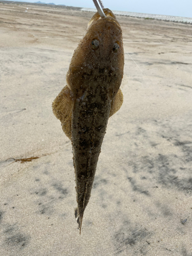
[[[109,9],[106,17],[94,14],[87,33],[79,42],[67,73],[67,84],[79,98],[90,86],[102,86],[110,99],[119,90],[123,77],[124,51],[121,27]]]

